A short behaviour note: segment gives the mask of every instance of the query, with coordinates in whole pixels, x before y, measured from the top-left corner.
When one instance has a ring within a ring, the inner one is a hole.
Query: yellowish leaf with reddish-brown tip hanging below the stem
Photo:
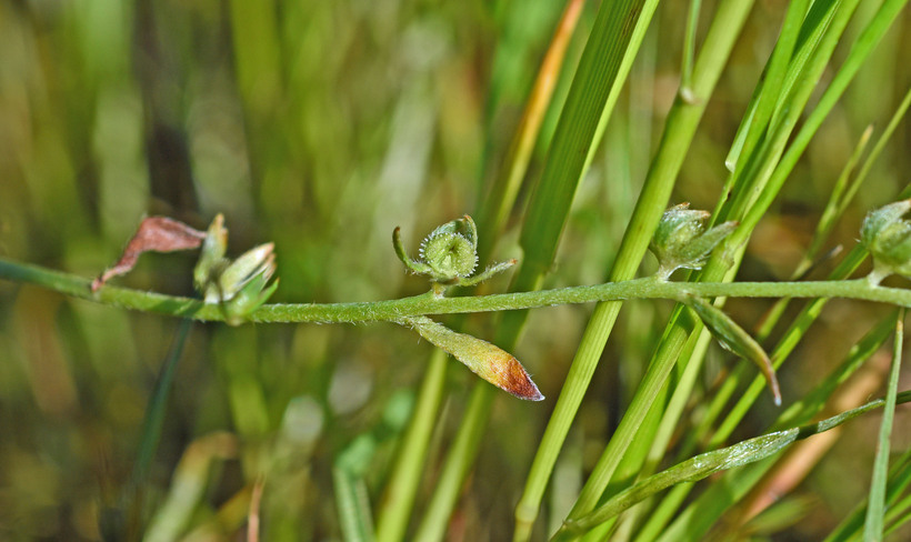
[[[529,401],[544,399],[519,360],[509,352],[475,337],[457,333],[426,317],[402,318],[399,323],[412,328],[428,342],[464,363],[474,374],[517,398]]]

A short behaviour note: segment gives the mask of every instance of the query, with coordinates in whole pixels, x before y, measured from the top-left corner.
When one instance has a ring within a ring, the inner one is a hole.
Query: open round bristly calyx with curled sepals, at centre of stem
[[[440,225],[424,238],[418,260],[412,260],[404,250],[399,228],[392,232],[392,245],[410,271],[430,278],[438,294],[443,287],[474,285],[515,264],[515,260],[494,263],[472,277],[478,267],[478,228],[468,214]]]

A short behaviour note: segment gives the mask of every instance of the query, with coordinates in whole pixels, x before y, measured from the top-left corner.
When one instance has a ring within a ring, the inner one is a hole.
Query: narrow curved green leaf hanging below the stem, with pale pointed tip
[[[772,368],[769,354],[762,350],[762,347],[721,309],[704,299],[685,295],[681,302],[695,311],[700,320],[709,328],[709,331],[712,332],[723,348],[755,363],[769,382],[775,404],[781,405],[781,390],[778,385],[775,370]]]

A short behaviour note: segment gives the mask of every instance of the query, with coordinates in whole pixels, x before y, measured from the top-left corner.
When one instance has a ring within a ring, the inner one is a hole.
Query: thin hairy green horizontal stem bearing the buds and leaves
[[[0,258],[0,278],[29,282],[74,298],[123,309],[194,320],[220,321],[218,305],[199,300],[106,285],[92,293],[90,280],[38,265]],[[533,292],[497,293],[465,298],[440,298],[431,292],[384,301],[357,303],[276,303],[250,314],[253,322],[376,322],[421,314],[511,311],[561,304],[629,299],[679,300],[702,298],[845,298],[911,308],[911,290],[873,285],[867,279],[818,282],[663,282],[653,277],[589,287]]]

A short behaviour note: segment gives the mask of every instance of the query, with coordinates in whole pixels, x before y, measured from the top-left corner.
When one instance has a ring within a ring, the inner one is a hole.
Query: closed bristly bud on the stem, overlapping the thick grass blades
[[[702,269],[709,253],[728,237],[737,222],[705,229],[708,211],[691,210],[689,203],[674,205],[661,217],[649,245],[658,258],[658,278],[668,280],[680,268]]]

